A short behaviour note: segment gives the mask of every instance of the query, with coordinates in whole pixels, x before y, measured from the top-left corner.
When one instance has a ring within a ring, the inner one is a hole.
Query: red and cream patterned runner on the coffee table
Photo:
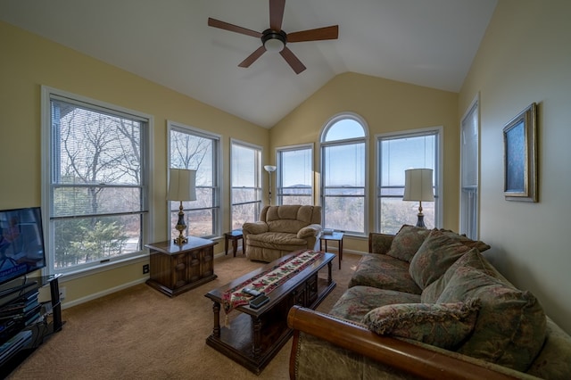
[[[242,306],[252,300],[252,296],[242,292],[244,287],[250,287],[262,293],[270,293],[277,286],[282,285],[307,268],[313,261],[318,260],[323,256],[323,252],[318,251],[303,251],[295,254],[285,261],[280,262],[273,268],[266,270],[246,281],[240,285],[236,285],[226,292],[222,293],[222,306],[226,312],[228,320],[228,313],[238,306]],[[227,323],[228,325],[228,323]]]

